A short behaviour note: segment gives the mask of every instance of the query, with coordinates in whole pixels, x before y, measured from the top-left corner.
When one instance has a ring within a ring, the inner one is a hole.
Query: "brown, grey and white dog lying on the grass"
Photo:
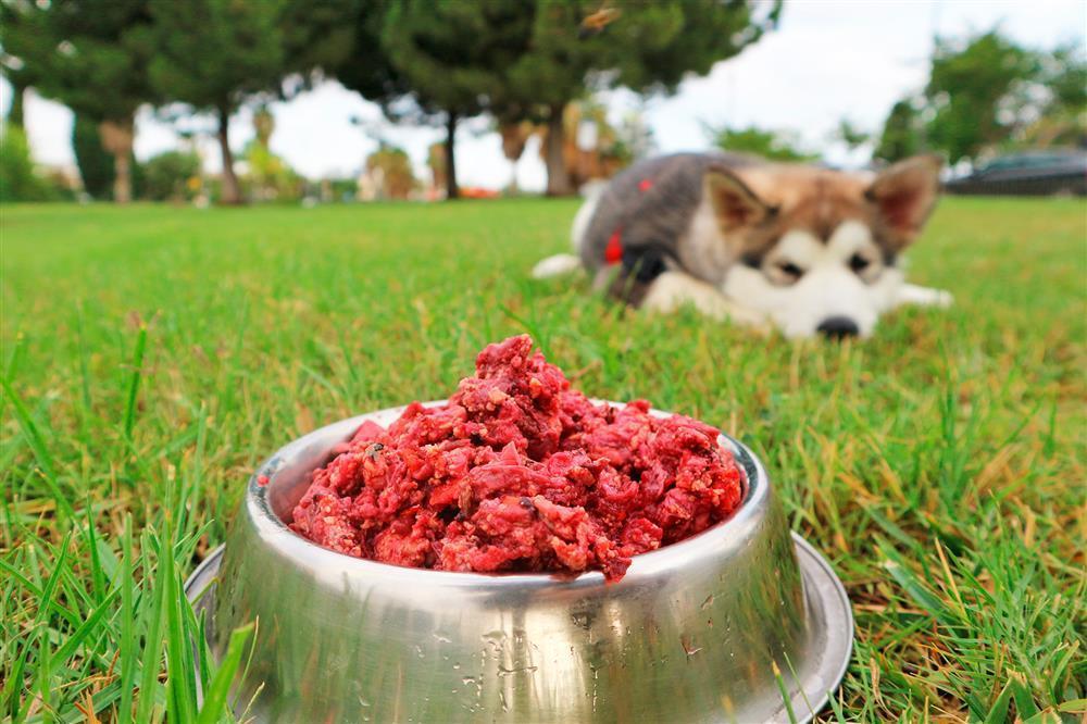
[[[634,307],[690,304],[787,337],[867,337],[888,310],[951,303],[901,269],[936,205],[940,165],[917,155],[872,175],[724,154],[644,161],[578,211],[577,255],[545,259],[533,275],[584,267]]]

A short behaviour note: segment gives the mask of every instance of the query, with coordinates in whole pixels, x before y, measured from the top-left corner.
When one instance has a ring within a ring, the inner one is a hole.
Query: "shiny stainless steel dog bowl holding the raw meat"
[[[250,479],[225,550],[186,584],[213,654],[258,621],[239,713],[252,700],[268,722],[807,721],[837,688],[852,647],[845,590],[732,438],[749,482],[740,510],[636,557],[613,584],[404,569],[291,533],[283,519],[310,473],[363,421],[401,410],[279,450]]]

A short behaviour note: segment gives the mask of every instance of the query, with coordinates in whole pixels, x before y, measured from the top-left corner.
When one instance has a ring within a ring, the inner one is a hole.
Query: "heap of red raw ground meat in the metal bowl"
[[[290,527],[348,556],[443,571],[623,576],[728,517],[744,475],[717,430],[597,405],[527,336],[490,345],[447,404],[364,423]]]

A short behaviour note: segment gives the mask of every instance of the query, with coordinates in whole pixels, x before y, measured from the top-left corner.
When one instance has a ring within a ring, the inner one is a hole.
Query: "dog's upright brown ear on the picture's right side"
[[[876,176],[864,197],[883,224],[904,247],[917,236],[936,207],[944,159],[935,153],[914,155]]]

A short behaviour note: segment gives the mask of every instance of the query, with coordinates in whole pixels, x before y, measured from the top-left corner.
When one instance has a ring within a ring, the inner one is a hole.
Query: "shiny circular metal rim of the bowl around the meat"
[[[595,404],[625,407],[625,402],[590,398]],[[423,402],[424,407],[436,407],[448,403],[448,400]],[[384,408],[347,417],[318,427],[287,445],[262,462],[250,475],[246,487],[242,510],[247,511],[252,525],[257,528],[259,538],[280,553],[307,567],[320,567],[346,575],[377,575],[385,578],[396,578],[403,583],[416,585],[449,585],[458,588],[509,588],[515,585],[532,587],[596,586],[605,583],[603,572],[585,571],[572,575],[562,572],[496,572],[479,573],[473,571],[439,571],[435,569],[417,569],[392,563],[383,563],[365,558],[355,558],[340,551],[325,548],[320,544],[304,538],[291,530],[287,523],[276,514],[270,500],[270,494],[275,485],[276,475],[298,455],[318,444],[332,440],[346,441],[360,425],[377,415],[399,415],[408,405]],[[670,417],[673,412],[650,408],[649,413],[655,417]],[[715,427],[715,426],[714,426]],[[719,430],[720,433],[720,430]],[[759,457],[736,438],[720,433],[719,442],[728,449],[744,472],[744,495],[739,507],[732,515],[710,526],[705,530],[657,550],[639,553],[632,558],[626,574],[616,582],[607,583],[611,588],[622,586],[627,579],[634,581],[639,573],[651,573],[665,569],[679,569],[691,554],[696,557],[721,550],[730,539],[742,537],[759,516],[765,514],[770,504],[771,485],[766,470]],[[322,463],[322,464],[327,464]],[[261,483],[261,478],[266,482]]]

